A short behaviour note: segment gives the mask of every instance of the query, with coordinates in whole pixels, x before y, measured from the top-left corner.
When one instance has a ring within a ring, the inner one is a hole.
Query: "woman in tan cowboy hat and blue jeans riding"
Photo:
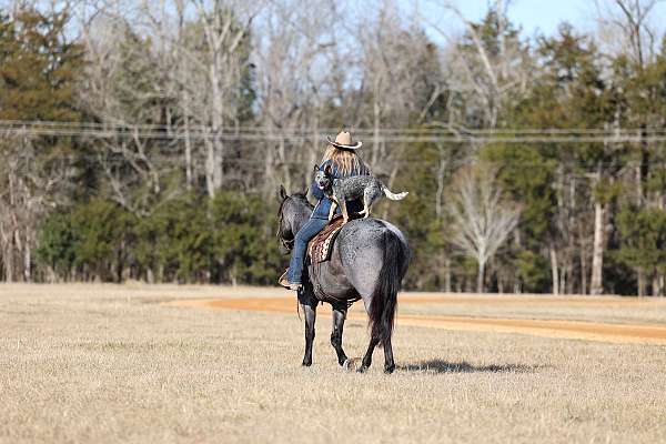
[[[320,170],[324,171],[327,165],[332,168],[332,175],[336,179],[349,178],[352,175],[367,175],[369,168],[363,163],[356,150],[361,148],[362,142],[352,142],[352,134],[349,131],[343,131],[335,140],[326,138],[329,147],[322,159]],[[311,185],[312,195],[317,199],[316,206],[310,216],[310,220],[301,228],[294,238],[294,246],[292,251],[289,270],[280,278],[280,285],[290,290],[300,290],[302,286],[303,264],[305,261],[305,251],[307,242],[313,239],[329,223],[329,211],[331,210],[331,200],[324,194],[316,182]],[[361,211],[359,201],[347,204],[350,212]],[[336,210],[340,213],[340,206]]]

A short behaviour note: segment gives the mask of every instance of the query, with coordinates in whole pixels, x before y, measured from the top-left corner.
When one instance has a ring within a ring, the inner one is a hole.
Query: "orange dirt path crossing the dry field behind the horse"
[[[490,297],[410,297],[404,301],[408,304],[421,303],[526,303],[526,297],[490,299]],[[596,300],[563,300],[554,297],[529,299],[531,303],[573,303],[573,304],[601,304]],[[622,300],[606,301],[614,304],[636,304],[640,301]],[[293,297],[251,297],[251,299],[214,299],[214,300],[185,300],[167,302],[164,305],[190,306],[206,309],[242,310],[268,313],[294,313],[296,310]],[[356,304],[355,310],[349,314],[352,321],[366,321],[362,304]],[[639,324],[610,324],[598,322],[581,322],[564,320],[524,320],[503,317],[473,317],[450,315],[397,315],[397,325],[423,326],[443,330],[465,330],[483,332],[521,333],[545,337],[576,339],[587,341],[610,342],[617,344],[662,344],[666,345],[666,326]]]

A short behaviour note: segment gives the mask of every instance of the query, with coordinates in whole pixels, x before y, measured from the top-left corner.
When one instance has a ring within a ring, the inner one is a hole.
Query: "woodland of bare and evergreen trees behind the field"
[[[341,129],[413,290],[664,295],[657,0],[526,37],[432,1],[0,0],[0,279],[273,284]],[[460,29],[461,31],[454,31]]]

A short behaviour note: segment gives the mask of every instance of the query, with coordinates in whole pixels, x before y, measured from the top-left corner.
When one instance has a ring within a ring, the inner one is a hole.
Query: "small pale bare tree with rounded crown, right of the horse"
[[[485,290],[487,261],[516,228],[519,209],[503,196],[497,173],[478,164],[461,169],[451,189],[448,211],[455,223],[451,242],[478,264],[476,291]]]

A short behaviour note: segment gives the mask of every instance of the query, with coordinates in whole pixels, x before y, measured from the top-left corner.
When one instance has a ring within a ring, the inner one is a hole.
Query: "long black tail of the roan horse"
[[[370,306],[371,335],[380,341],[380,346],[393,334],[397,292],[403,279],[404,263],[408,260],[406,245],[390,230],[384,232],[382,268]]]

